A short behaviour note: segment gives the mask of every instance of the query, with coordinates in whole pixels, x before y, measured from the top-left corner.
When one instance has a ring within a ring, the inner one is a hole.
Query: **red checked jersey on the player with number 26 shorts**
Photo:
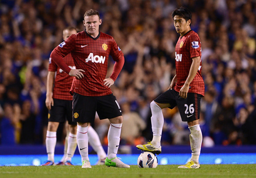
[[[189,76],[193,61],[192,58],[198,56],[201,58],[201,41],[197,33],[191,30],[179,37],[175,48],[177,83],[174,86],[174,90],[177,92],[180,92],[180,88],[184,85]],[[201,74],[201,67],[202,61],[200,62],[200,67],[195,78],[189,85],[189,93],[197,93],[204,96],[204,81]]]

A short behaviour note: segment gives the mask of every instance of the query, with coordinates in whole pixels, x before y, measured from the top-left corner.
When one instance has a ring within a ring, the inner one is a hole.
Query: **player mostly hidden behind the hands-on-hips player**
[[[77,31],[74,27],[67,27],[63,30],[63,39],[66,40]],[[71,69],[75,69],[75,64],[71,54],[63,58],[64,62]],[[74,77],[69,76],[54,61],[49,60],[48,78],[46,84],[45,105],[49,109],[48,130],[46,133],[46,151],[48,160],[42,166],[54,165],[54,149],[56,145],[56,131],[60,122],[68,121],[67,136],[64,148],[64,156],[57,165],[71,166],[71,159],[76,149],[76,130],[77,123],[72,121],[72,95],[69,93]],[[56,77],[55,77],[56,73]],[[102,148],[97,132],[90,126],[88,128],[89,142],[92,148],[97,152],[97,164],[104,163],[106,152]],[[103,161],[103,162],[102,162]]]

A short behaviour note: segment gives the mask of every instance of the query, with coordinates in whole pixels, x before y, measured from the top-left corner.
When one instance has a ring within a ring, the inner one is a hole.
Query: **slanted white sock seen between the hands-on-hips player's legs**
[[[104,159],[107,157],[107,154],[100,143],[99,135],[94,128],[92,128],[92,126],[89,126],[88,128],[88,141],[91,147],[97,152],[99,159]]]

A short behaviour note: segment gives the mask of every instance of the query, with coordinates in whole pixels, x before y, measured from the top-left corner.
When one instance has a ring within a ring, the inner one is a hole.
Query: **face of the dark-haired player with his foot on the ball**
[[[190,29],[191,20],[186,21],[184,18],[180,16],[174,16],[173,23],[177,33],[180,33],[181,36],[191,30]]]

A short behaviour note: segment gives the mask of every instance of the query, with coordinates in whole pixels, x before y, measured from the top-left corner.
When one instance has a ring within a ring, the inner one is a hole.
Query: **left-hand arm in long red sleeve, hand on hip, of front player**
[[[59,53],[57,53],[56,48],[52,51],[51,58],[57,66],[59,66],[64,72],[68,73],[69,75],[74,76],[77,79],[82,79],[84,77],[84,74],[82,72],[85,71],[83,69],[69,68],[67,64],[64,62],[63,57]]]

